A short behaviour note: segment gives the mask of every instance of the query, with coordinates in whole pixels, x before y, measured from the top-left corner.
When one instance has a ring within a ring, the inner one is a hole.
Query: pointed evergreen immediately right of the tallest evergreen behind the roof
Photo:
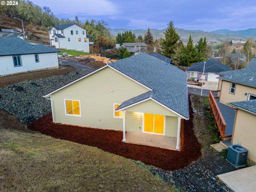
[[[181,53],[181,64],[183,66],[191,66],[193,63],[202,61],[203,59],[201,58],[201,53],[199,53],[193,45],[193,39],[191,35],[189,36],[188,39],[188,44],[187,46],[183,47],[182,53]]]

